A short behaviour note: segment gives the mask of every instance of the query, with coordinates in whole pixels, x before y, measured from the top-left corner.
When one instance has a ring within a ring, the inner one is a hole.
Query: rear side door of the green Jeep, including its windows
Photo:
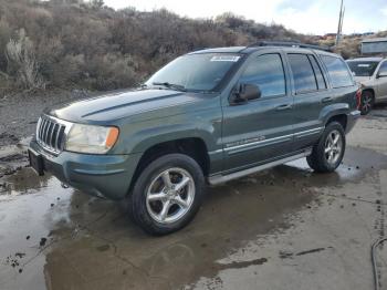
[[[320,114],[333,101],[317,58],[312,53],[287,53],[294,96],[294,151],[313,145],[323,131]]]

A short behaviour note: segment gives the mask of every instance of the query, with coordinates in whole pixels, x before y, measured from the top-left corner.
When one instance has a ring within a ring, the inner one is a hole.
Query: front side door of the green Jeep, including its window
[[[293,141],[293,99],[286,94],[281,53],[252,55],[240,83],[255,84],[261,97],[240,105],[223,104],[223,170],[239,170],[289,153]]]

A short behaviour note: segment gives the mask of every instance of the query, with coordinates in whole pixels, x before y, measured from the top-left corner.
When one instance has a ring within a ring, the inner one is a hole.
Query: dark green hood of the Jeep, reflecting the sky
[[[147,114],[148,117],[149,115],[153,117],[163,117],[163,114],[171,115],[170,110],[164,108],[181,106],[200,100],[202,95],[171,90],[125,91],[56,105],[46,108],[44,113],[76,123],[113,122],[138,114]]]

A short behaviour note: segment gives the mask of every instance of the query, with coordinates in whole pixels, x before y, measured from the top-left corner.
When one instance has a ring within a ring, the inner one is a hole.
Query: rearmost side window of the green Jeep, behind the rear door
[[[333,87],[354,85],[351,72],[342,59],[330,55],[321,55],[321,58],[328,71]]]

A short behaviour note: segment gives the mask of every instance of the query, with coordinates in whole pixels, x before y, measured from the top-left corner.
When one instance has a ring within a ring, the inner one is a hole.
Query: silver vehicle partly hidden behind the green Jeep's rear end
[[[360,111],[366,115],[375,103],[387,101],[387,59],[360,58],[347,63],[355,81],[362,84]]]

